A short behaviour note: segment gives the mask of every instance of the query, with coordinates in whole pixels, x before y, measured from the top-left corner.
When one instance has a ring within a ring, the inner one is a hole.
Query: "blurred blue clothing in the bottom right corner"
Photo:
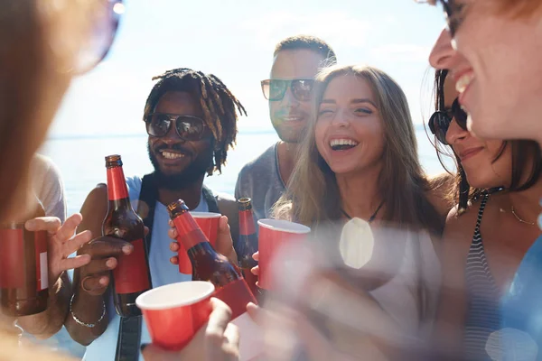
[[[502,300],[502,322],[505,360],[542,360],[542,236],[523,257]]]

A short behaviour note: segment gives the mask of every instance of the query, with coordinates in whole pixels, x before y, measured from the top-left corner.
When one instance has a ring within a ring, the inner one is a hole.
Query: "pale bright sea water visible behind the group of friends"
[[[428,174],[444,171],[423,127],[416,129],[416,137],[420,162],[425,171]],[[228,164],[223,167],[222,174],[207,177],[205,184],[212,190],[233,194],[238,171],[277,140],[273,130],[241,131],[236,148],[228,154]],[[78,212],[89,191],[98,183],[105,182],[106,155],[122,155],[126,177],[143,176],[153,171],[146,151],[146,141],[146,134],[50,138],[43,145],[41,153],[51,157],[61,170],[68,199],[68,215]]]

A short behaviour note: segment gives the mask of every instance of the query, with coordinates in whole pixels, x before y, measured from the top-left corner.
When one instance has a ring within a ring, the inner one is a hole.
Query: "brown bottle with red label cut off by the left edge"
[[[32,218],[45,217],[36,198]],[[5,315],[20,317],[47,309],[49,269],[47,231],[30,232],[27,219],[7,222],[0,229],[0,292]]]

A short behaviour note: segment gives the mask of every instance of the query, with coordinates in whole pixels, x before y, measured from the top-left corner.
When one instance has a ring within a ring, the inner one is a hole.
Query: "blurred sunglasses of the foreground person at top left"
[[[73,71],[83,74],[104,60],[117,35],[120,16],[125,12],[123,0],[100,0],[92,8],[89,37],[81,44],[77,63]]]

